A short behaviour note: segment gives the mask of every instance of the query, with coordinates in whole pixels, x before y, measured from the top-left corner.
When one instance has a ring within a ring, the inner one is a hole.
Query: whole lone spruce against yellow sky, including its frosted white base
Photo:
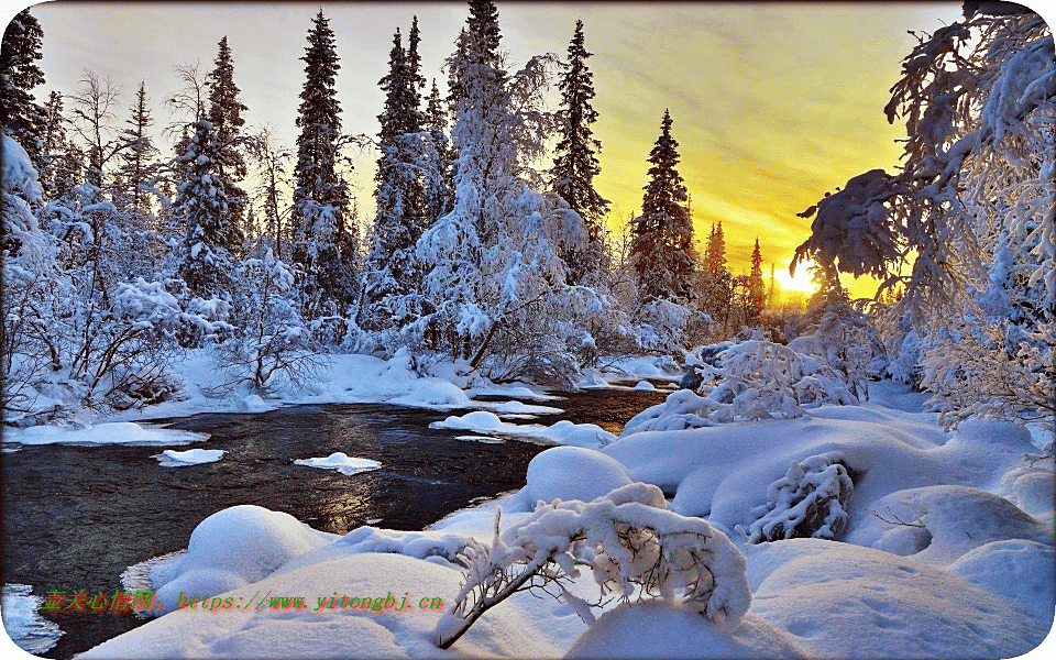
[[[660,136],[649,154],[649,183],[641,215],[631,220],[630,263],[638,280],[635,320],[656,338],[642,348],[667,351],[678,345],[695,310],[695,266],[691,255],[693,219],[679,164],[679,143],[671,135],[671,114],[663,111]],[[654,344],[654,345],[650,345]]]

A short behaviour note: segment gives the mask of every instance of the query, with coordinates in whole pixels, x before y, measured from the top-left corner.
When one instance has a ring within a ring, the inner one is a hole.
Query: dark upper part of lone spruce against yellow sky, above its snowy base
[[[693,220],[685,183],[675,169],[679,143],[671,135],[671,114],[664,110],[660,136],[649,154],[649,184],[641,200],[641,216],[632,220],[631,264],[645,300],[678,302],[692,297]]]

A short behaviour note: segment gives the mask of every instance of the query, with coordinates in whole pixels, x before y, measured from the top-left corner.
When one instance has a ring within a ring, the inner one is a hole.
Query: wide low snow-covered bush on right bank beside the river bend
[[[752,339],[722,351],[713,359],[717,366],[701,362],[694,370],[701,374],[697,392],[704,396],[675,392],[628,421],[623,435],[800,417],[805,408],[823,404],[858,404],[842,374],[822,356],[801,353],[791,344]]]

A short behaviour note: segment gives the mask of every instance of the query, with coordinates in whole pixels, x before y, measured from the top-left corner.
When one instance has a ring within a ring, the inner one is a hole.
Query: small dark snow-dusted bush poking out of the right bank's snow
[[[855,484],[829,455],[792,461],[788,473],[767,488],[767,504],[750,515],[751,543],[813,537],[835,539],[847,526],[847,502]]]

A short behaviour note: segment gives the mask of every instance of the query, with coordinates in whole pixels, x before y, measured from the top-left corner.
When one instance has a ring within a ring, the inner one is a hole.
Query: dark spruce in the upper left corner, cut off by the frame
[[[41,59],[44,31],[29,9],[23,9],[3,31],[0,44],[0,128],[23,146],[38,167],[44,109],[33,88],[44,82]]]

